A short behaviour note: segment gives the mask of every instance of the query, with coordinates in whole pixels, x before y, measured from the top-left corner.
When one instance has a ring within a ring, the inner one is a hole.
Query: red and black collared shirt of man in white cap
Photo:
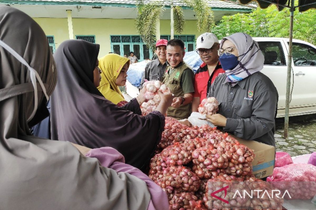
[[[223,73],[225,73],[225,70],[222,69],[222,65],[219,61],[211,75],[209,74],[206,63],[203,62],[194,76],[193,97],[200,97],[201,103],[202,100],[206,98],[206,95],[210,90],[211,85],[215,81],[215,78]]]

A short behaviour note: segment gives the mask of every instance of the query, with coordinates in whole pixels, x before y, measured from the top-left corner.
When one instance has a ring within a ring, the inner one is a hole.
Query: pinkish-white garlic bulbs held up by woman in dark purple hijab
[[[151,111],[155,111],[157,105],[160,102],[160,97],[157,93],[158,90],[160,90],[163,94],[171,93],[171,91],[169,88],[167,88],[165,84],[162,84],[159,80],[144,82],[143,86],[146,87],[144,97],[148,101],[144,102],[141,105],[141,111],[143,115],[146,115]]]

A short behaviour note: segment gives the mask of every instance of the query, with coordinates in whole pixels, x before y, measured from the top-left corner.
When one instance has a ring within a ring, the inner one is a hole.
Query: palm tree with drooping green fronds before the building
[[[214,15],[208,3],[205,0],[180,0],[189,8],[192,8],[197,17],[197,30],[210,32],[215,26]],[[155,49],[156,40],[160,39],[160,16],[164,13],[166,5],[163,1],[153,1],[144,4],[143,0],[136,0],[137,18],[136,28],[138,34],[142,37],[143,42],[151,50]],[[173,38],[173,30],[179,34],[182,33],[185,26],[185,18],[183,10],[180,6],[173,6],[173,0],[170,1],[171,6],[171,38]],[[173,29],[174,27],[174,29]]]

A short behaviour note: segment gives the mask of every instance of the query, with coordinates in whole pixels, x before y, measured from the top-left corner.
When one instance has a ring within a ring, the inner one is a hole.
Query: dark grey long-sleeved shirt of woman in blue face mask
[[[224,131],[242,139],[275,146],[278,94],[267,76],[256,72],[231,86],[226,81],[226,74],[219,75],[207,97],[218,100],[218,113],[227,118]]]

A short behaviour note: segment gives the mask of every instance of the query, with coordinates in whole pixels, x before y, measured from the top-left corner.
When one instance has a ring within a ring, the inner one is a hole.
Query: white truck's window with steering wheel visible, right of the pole
[[[316,49],[302,43],[293,43],[293,63],[295,66],[315,66]]]

